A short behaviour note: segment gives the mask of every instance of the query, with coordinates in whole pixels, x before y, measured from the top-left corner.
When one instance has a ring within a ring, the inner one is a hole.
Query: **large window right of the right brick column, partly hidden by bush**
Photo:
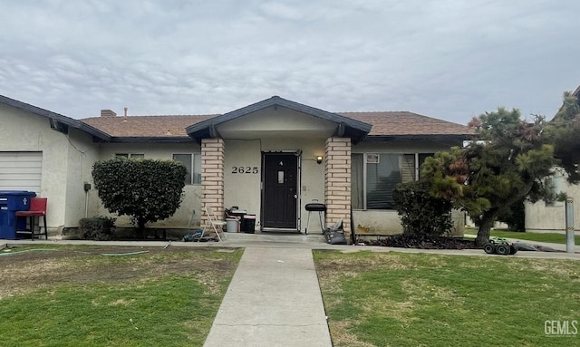
[[[395,186],[420,176],[432,153],[353,153],[351,203],[354,209],[395,209]]]

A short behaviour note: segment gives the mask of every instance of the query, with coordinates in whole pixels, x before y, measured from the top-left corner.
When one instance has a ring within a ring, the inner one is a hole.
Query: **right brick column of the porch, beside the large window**
[[[326,225],[343,220],[344,236],[351,241],[351,139],[326,140],[324,160]]]

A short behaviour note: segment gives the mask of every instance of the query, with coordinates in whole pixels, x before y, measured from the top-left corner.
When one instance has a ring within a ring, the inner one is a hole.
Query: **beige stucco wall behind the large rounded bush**
[[[199,154],[201,148],[196,142],[187,143],[102,143],[99,159],[112,159],[115,153],[142,153],[146,159],[172,159],[173,154],[192,153]],[[91,216],[111,216],[117,217],[116,225],[118,227],[130,227],[131,220],[128,216],[117,216],[109,213],[102,206],[102,201],[98,197],[97,190],[92,187],[90,192],[92,200]],[[195,213],[194,213],[195,211]],[[183,200],[178,210],[172,217],[160,220],[157,223],[151,223],[148,227],[169,227],[169,228],[187,228],[189,227],[190,218],[193,215],[192,227],[199,227],[201,217],[201,186],[186,185],[183,189]]]

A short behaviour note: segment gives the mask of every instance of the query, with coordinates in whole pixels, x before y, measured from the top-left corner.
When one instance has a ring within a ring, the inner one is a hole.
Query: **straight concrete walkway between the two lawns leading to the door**
[[[332,346],[309,248],[248,247],[204,347]]]

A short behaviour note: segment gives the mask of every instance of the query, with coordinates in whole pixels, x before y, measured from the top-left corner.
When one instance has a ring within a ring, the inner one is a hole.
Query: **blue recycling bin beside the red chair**
[[[19,229],[26,227],[26,220],[16,218],[16,211],[28,211],[30,199],[34,197],[34,191],[0,190],[0,238],[14,240],[16,223]]]

